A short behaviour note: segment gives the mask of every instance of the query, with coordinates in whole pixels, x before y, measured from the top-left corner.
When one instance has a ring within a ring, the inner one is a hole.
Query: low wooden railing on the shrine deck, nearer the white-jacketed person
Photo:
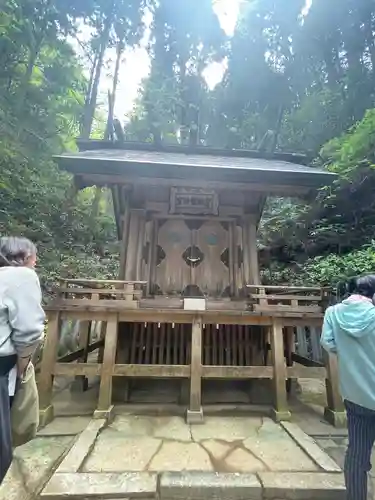
[[[54,292],[56,299],[53,305],[65,306],[116,306],[137,309],[143,295],[142,288],[146,281],[121,280],[91,280],[67,279],[61,280],[60,286]]]

